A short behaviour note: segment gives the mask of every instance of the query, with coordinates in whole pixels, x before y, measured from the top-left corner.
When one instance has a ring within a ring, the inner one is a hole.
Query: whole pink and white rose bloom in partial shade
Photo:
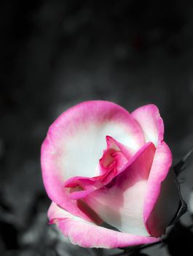
[[[80,246],[159,241],[181,206],[163,135],[155,105],[130,114],[112,102],[89,101],[60,115],[42,144],[50,223]]]

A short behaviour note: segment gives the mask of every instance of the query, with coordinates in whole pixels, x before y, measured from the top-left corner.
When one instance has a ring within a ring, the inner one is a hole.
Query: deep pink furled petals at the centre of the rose
[[[121,146],[120,146],[121,145]],[[71,199],[77,200],[88,195],[88,193],[99,189],[108,184],[114,176],[116,176],[125,165],[128,159],[122,153],[121,148],[127,151],[127,157],[131,154],[130,150],[120,144],[114,138],[106,136],[106,150],[103,151],[103,156],[99,159],[98,175],[93,177],[75,176],[69,178],[64,186],[65,187],[79,187],[78,191],[71,192]],[[82,192],[84,190],[84,192]]]

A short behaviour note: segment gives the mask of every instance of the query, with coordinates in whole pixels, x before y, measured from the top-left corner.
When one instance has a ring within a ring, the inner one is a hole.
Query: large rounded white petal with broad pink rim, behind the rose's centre
[[[112,102],[83,102],[63,113],[50,127],[42,144],[42,175],[50,199],[77,216],[64,182],[73,176],[97,175],[105,137],[111,135],[137,150],[143,145],[141,128],[124,108]]]

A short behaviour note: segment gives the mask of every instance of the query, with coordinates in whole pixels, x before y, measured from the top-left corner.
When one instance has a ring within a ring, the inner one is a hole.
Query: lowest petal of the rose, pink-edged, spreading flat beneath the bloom
[[[158,238],[121,233],[86,222],[59,208],[55,203],[51,204],[48,216],[55,219],[60,231],[72,244],[79,246],[117,248],[159,241]]]

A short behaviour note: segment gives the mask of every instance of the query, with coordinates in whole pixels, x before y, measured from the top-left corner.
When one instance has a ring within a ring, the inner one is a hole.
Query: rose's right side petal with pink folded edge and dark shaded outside
[[[170,171],[170,175],[168,176],[171,164],[172,154],[170,148],[168,148],[168,145],[162,141],[157,146],[155,152],[144,203],[144,222],[146,223],[146,228],[149,230],[149,233],[154,236],[160,236],[165,233],[165,228],[169,222],[171,222],[171,218],[174,217],[176,212],[176,205],[177,208],[179,205],[178,191],[176,190],[176,185],[174,183],[175,178],[174,176],[173,178],[170,178],[173,170]],[[167,182],[164,185],[162,184],[162,181],[165,181],[166,177]],[[170,182],[168,183],[168,181]],[[162,193],[160,194],[161,187],[165,187],[165,191],[167,190],[168,195],[165,195],[163,189],[163,195]],[[165,201],[164,206],[162,206],[163,200]],[[172,207],[172,209],[170,207]]]

